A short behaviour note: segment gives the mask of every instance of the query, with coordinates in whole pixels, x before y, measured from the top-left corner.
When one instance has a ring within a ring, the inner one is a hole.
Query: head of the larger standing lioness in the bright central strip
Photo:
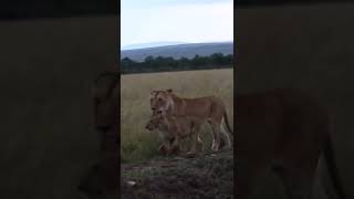
[[[171,93],[173,90],[153,91],[150,93],[150,108],[154,114],[165,113],[171,106]]]

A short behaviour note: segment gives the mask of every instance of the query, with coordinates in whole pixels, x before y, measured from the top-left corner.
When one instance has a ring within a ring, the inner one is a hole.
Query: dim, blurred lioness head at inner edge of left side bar
[[[93,106],[95,128],[107,132],[114,127],[118,114],[118,75],[104,72],[98,75],[93,86]]]

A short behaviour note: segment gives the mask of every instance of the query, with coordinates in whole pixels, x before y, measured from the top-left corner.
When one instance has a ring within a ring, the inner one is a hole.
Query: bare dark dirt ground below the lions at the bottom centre
[[[155,158],[123,164],[123,199],[233,198],[233,154]]]

